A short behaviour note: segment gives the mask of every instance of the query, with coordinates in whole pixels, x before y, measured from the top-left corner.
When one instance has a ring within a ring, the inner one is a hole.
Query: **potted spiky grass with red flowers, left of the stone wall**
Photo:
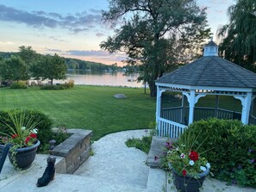
[[[3,143],[10,143],[9,161],[16,168],[26,169],[34,161],[40,140],[37,129],[40,122],[26,117],[24,111],[9,111],[8,120],[3,121],[5,132],[1,136]]]

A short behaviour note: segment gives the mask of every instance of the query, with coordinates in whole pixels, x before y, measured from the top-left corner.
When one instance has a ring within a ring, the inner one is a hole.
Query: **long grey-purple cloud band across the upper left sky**
[[[33,28],[68,28],[73,34],[77,34],[103,24],[101,14],[96,9],[91,12],[91,14],[84,11],[75,15],[60,15],[42,10],[28,12],[0,4],[0,21],[23,23]]]

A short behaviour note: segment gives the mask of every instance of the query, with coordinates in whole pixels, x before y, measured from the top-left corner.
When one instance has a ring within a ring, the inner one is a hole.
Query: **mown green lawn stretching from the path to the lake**
[[[149,90],[147,90],[149,92]],[[123,93],[128,99],[116,99]],[[56,127],[84,128],[93,139],[122,130],[147,128],[155,121],[155,98],[143,89],[75,86],[71,90],[0,89],[0,108],[31,108],[50,115]]]

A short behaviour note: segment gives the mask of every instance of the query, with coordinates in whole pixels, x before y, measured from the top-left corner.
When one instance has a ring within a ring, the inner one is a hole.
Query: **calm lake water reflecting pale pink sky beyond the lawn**
[[[142,83],[137,83],[139,74],[124,75],[122,71],[115,72],[92,72],[92,71],[68,71],[67,79],[74,80],[74,84],[109,85],[143,87]]]

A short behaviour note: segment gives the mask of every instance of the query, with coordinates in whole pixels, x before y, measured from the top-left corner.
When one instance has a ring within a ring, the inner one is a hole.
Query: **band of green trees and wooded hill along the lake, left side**
[[[0,53],[1,82],[11,83],[21,80],[65,79],[68,69],[90,71],[116,71],[117,64],[103,65],[80,59],[65,59],[58,54],[42,55],[36,53],[31,46],[20,46],[18,53]]]

